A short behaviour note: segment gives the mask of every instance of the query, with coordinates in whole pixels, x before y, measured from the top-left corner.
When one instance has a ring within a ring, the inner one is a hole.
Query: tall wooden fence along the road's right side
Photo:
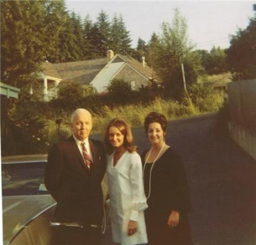
[[[256,132],[256,79],[228,83],[230,120]]]

